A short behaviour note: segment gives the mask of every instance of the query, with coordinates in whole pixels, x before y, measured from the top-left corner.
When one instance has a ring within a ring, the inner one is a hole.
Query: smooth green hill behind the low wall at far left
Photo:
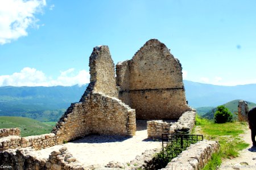
[[[53,123],[51,122],[44,124],[43,122],[26,117],[0,116],[0,129],[19,128],[22,137],[50,133],[52,126]]]

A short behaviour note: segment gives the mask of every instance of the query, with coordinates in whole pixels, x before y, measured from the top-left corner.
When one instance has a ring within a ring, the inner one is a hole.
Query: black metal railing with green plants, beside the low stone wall
[[[168,147],[171,145],[173,148],[186,148],[191,143],[203,141],[203,135],[192,134],[162,134],[162,147]]]

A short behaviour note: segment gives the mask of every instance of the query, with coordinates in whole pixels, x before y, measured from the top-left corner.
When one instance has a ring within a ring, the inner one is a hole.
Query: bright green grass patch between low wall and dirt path
[[[205,139],[220,142],[220,151],[213,155],[204,169],[216,169],[216,167],[221,165],[221,159],[236,158],[239,156],[238,151],[249,146],[239,136],[247,128],[245,122],[214,124],[212,121],[196,116],[196,126],[200,126],[201,133]]]

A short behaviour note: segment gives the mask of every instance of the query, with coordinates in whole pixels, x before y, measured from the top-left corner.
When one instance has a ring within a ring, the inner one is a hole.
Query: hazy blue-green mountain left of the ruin
[[[0,116],[57,121],[71,103],[80,100],[86,86],[0,87]]]

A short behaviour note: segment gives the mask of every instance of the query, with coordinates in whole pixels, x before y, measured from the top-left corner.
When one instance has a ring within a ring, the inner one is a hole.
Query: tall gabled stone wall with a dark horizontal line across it
[[[117,63],[119,99],[136,109],[137,118],[177,119],[190,109],[181,69],[162,42],[149,40],[131,60]]]

